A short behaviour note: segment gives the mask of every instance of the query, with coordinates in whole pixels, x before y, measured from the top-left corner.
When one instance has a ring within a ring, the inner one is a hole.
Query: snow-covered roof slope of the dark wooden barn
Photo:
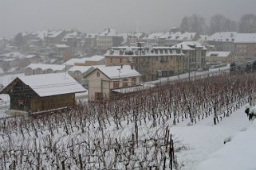
[[[86,91],[80,83],[65,73],[27,75],[18,79],[30,86],[41,97]]]

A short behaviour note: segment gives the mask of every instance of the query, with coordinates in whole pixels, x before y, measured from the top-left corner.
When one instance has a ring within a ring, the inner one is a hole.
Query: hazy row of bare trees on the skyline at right
[[[222,14],[215,14],[207,23],[207,20],[203,16],[192,14],[191,16],[183,17],[179,29],[182,32],[206,33],[209,35],[232,31],[238,33],[256,33],[256,15],[244,14],[239,21],[233,21]]]

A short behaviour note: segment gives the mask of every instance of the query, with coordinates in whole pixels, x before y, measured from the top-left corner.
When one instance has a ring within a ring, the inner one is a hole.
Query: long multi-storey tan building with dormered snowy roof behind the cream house
[[[139,71],[142,81],[183,73],[184,55],[180,49],[170,47],[138,46],[112,47],[104,54],[106,66],[130,65]]]

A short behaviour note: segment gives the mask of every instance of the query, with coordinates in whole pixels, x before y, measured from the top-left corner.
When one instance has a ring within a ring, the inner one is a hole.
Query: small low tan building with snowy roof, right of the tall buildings
[[[207,64],[223,63],[230,64],[234,61],[234,55],[231,52],[211,51],[206,54]]]

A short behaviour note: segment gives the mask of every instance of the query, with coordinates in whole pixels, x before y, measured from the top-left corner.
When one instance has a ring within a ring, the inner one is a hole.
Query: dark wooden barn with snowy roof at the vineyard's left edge
[[[85,91],[70,75],[55,73],[17,77],[0,94],[10,95],[10,110],[34,113],[74,106],[75,93]]]

